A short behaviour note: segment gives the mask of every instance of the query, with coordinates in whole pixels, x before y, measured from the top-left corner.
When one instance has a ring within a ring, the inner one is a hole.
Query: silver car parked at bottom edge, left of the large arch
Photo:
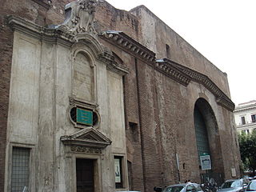
[[[203,192],[199,184],[190,183],[190,182],[176,184],[172,186],[166,186],[166,188],[163,190],[161,187],[155,186],[154,191],[156,192]]]

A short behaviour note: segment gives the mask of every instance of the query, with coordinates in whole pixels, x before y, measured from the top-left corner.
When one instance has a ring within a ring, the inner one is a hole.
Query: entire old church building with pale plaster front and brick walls
[[[0,190],[147,192],[240,177],[226,73],[145,6],[2,7]]]

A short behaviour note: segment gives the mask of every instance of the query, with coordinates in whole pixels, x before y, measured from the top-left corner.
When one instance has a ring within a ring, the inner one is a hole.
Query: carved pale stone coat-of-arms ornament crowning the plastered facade
[[[96,3],[96,0],[78,0],[67,4],[65,22],[58,29],[73,35],[88,33],[97,36],[94,29]]]

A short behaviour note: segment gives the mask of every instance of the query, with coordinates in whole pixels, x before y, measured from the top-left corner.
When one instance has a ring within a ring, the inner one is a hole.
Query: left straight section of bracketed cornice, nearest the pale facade
[[[122,31],[106,30],[99,34],[99,36],[105,39],[107,42],[110,42],[115,46],[120,47],[122,50],[126,50],[127,52],[134,54],[134,56],[141,58],[146,62],[155,62],[155,54],[153,51],[147,49],[145,46],[142,46],[142,44],[135,41],[133,38],[130,38]]]

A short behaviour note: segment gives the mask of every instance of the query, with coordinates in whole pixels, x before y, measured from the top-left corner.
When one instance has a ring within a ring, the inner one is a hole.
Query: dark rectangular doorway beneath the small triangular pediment
[[[77,192],[94,192],[93,159],[76,159]]]

